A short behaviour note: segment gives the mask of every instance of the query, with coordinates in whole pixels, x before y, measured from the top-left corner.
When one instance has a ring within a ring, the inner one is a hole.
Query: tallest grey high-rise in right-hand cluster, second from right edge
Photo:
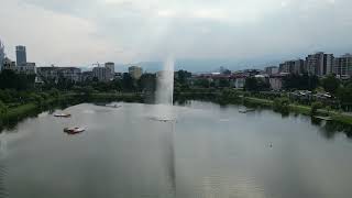
[[[333,72],[333,55],[319,52],[306,58],[307,72],[311,75],[324,76]]]

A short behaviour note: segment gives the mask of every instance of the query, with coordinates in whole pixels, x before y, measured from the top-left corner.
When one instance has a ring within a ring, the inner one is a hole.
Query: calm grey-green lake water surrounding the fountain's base
[[[79,105],[0,135],[0,197],[346,198],[352,141],[306,117],[239,113],[207,102],[174,107]],[[84,125],[78,135],[63,128]]]

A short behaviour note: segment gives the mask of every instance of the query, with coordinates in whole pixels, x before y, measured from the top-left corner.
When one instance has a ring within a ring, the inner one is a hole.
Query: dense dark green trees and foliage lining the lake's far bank
[[[288,113],[293,109],[299,112],[307,112],[306,114],[326,111],[326,109],[321,109],[318,112],[322,105],[320,106],[317,102],[309,107],[302,106],[304,103],[292,98],[289,100],[287,98],[289,96],[288,92],[265,91],[268,89],[268,84],[264,78],[248,78],[245,91],[243,91],[232,89],[230,79],[210,80],[207,78],[190,79],[190,77],[191,74],[185,70],[175,73],[175,101],[184,102],[197,99],[220,105],[263,105],[263,107],[273,107],[275,111],[282,113]],[[296,77],[298,79],[294,79]],[[45,85],[35,87],[33,76],[15,74],[12,70],[3,70],[0,74],[0,125],[3,122],[19,120],[32,113],[35,114],[57,102],[79,103],[117,100],[153,102],[157,84],[155,74],[143,74],[140,79],[134,79],[125,73],[121,78],[116,78],[112,81],[91,79],[84,82],[75,82],[62,78],[56,81],[46,80]],[[309,87],[300,85],[307,81],[311,82]],[[318,78],[308,75],[292,75],[284,79],[284,85],[289,89],[314,89],[318,86]],[[342,84],[334,76],[328,76],[321,80],[321,85],[326,91],[334,94],[339,98],[339,103],[333,106],[334,109],[351,110],[352,81]],[[316,100],[310,101],[308,105],[314,101]],[[343,120],[345,123],[351,122],[349,117],[337,113],[331,108],[328,112],[332,114],[333,119]]]

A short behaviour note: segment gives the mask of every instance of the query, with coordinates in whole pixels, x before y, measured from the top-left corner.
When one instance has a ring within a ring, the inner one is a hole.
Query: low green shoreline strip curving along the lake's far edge
[[[175,101],[183,102],[187,100],[202,100],[211,101],[222,106],[226,105],[243,105],[245,107],[257,106],[270,108],[274,111],[274,100],[261,99],[255,97],[239,97],[238,95],[223,94],[223,92],[177,92],[175,94]],[[150,103],[151,96],[147,94],[135,92],[98,92],[90,95],[82,94],[63,94],[57,98],[52,98],[43,101],[41,105],[35,102],[24,103],[14,108],[9,108],[6,114],[2,114],[0,122],[0,130],[14,127],[18,122],[36,117],[38,113],[46,110],[64,109],[69,106],[74,106],[82,102],[112,102],[112,101],[125,101],[125,102],[142,102]],[[277,111],[276,111],[277,112]],[[288,113],[295,112],[304,116],[311,117],[311,107],[300,105],[288,105]],[[318,109],[317,116],[324,116],[331,118],[332,121],[352,125],[352,114],[340,113],[337,111],[328,111],[326,109]]]

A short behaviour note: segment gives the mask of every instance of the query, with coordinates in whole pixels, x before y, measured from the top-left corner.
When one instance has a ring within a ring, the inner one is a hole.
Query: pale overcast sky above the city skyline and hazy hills
[[[352,52],[350,8],[351,0],[1,0],[0,40],[10,58],[25,45],[40,66],[168,56],[255,65]]]

